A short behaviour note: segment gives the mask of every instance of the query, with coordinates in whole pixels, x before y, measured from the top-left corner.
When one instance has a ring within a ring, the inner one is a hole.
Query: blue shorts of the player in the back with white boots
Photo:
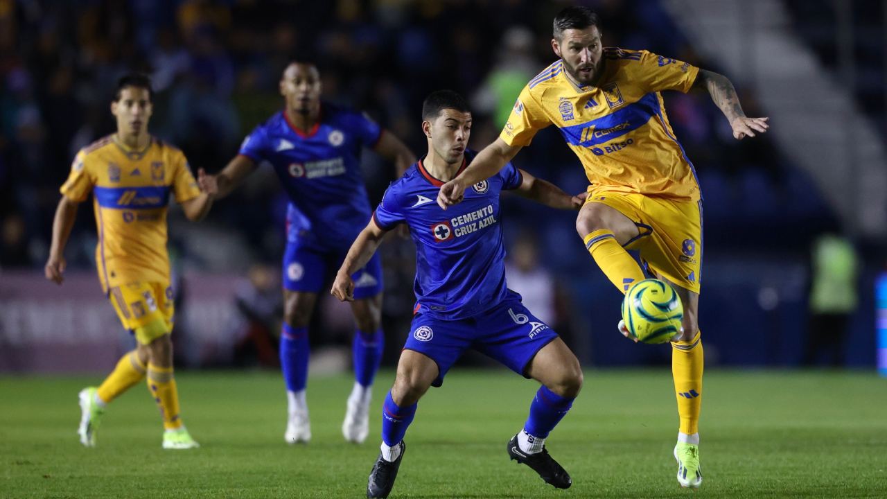
[[[339,271],[348,254],[344,251],[320,251],[287,242],[283,255],[283,287],[290,291],[318,293],[324,287],[326,276]],[[354,298],[374,297],[382,291],[382,265],[375,254],[367,264],[351,274],[354,280]]]

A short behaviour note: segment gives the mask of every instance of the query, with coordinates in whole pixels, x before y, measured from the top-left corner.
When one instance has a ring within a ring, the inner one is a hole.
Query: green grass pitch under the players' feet
[[[98,447],[82,448],[77,392],[99,376],[0,377],[0,497],[361,497],[392,376],[379,376],[359,446],[340,432],[350,376],[310,379],[313,439],[291,447],[278,374],[181,372],[184,421],[203,446],[192,451],[161,450],[143,384],[108,408]],[[507,371],[455,368],[420,402],[392,497],[887,497],[887,379],[875,374],[710,369],[696,492],[674,478],[668,370],[585,373],[547,443],[573,477],[566,491],[506,455],[535,390]]]

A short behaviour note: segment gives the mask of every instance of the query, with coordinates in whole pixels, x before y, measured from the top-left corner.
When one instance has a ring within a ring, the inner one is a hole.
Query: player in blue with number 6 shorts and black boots
[[[389,495],[417,402],[429,386],[443,384],[447,370],[468,348],[542,384],[530,404],[530,417],[508,442],[507,451],[547,483],[567,488],[572,483],[569,474],[548,455],[545,441],[576,399],[582,370],[561,338],[506,287],[499,193],[514,190],[563,210],[577,210],[583,199],[509,163],[468,189],[458,207],[444,211],[435,202],[438,189],[475,156],[466,149],[471,113],[459,94],[436,91],[425,99],[422,120],[428,154],[389,186],[342,262],[332,289],[340,300],[354,299],[355,271],[370,261],[386,232],[398,224],[409,227],[416,244],[417,303],[412,333],[382,408],[381,453],[366,495]]]

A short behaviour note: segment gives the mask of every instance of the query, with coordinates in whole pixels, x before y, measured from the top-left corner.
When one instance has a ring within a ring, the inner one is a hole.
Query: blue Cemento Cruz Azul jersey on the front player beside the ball
[[[462,170],[475,154],[466,151]],[[389,186],[373,218],[383,229],[402,222],[410,227],[416,244],[416,311],[444,320],[464,319],[508,297],[499,193],[522,181],[521,172],[509,162],[496,175],[467,188],[465,199],[445,211],[436,202],[443,182],[428,174],[422,160]]]

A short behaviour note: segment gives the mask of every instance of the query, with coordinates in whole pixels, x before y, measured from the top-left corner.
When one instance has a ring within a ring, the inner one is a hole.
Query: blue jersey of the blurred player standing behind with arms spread
[[[289,196],[287,239],[320,250],[348,249],[370,219],[360,172],[363,147],[381,138],[364,115],[326,102],[314,128],[296,129],[280,111],[255,127],[240,154],[270,162]]]

